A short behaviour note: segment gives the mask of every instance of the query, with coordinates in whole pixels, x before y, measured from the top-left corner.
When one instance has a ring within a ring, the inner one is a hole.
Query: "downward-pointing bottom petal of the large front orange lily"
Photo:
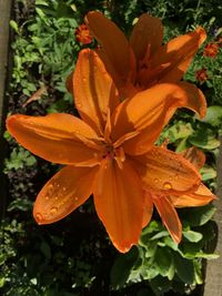
[[[105,159],[93,194],[97,213],[113,245],[128,252],[138,244],[142,229],[144,196],[138,174],[128,161],[122,162],[120,170],[114,160]]]

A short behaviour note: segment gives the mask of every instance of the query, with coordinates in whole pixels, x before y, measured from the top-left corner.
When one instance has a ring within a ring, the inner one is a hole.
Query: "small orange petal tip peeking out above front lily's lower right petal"
[[[193,165],[195,165],[198,170],[200,170],[205,163],[205,155],[198,147],[189,147],[182,151],[180,154]]]

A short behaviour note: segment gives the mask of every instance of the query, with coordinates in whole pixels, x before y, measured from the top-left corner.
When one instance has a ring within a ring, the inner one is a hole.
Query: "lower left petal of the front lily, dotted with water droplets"
[[[33,216],[38,224],[57,222],[84,203],[92,194],[98,167],[65,166],[40,191]]]

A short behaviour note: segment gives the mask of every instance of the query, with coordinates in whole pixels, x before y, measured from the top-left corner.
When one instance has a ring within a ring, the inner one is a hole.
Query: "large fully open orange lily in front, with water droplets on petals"
[[[113,245],[127,252],[138,244],[142,229],[144,186],[160,196],[190,193],[199,186],[194,165],[153,143],[176,108],[186,106],[203,116],[204,96],[186,83],[162,83],[120,102],[104,64],[89,49],[79,54],[73,90],[81,119],[54,113],[14,114],[7,120],[8,131],[21,145],[65,165],[40,191],[33,216],[39,224],[53,223],[93,194]],[[176,174],[179,178],[169,181],[169,175]]]

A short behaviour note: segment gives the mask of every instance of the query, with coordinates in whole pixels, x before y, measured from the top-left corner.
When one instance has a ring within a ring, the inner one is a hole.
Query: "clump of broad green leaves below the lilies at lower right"
[[[152,221],[143,229],[139,246],[117,257],[111,271],[112,287],[121,289],[148,282],[155,295],[162,295],[171,289],[186,294],[202,284],[202,259],[218,257],[204,249],[205,243],[214,237],[210,221],[214,212],[211,204],[181,210],[183,239],[180,245],[172,241],[161,222]]]

